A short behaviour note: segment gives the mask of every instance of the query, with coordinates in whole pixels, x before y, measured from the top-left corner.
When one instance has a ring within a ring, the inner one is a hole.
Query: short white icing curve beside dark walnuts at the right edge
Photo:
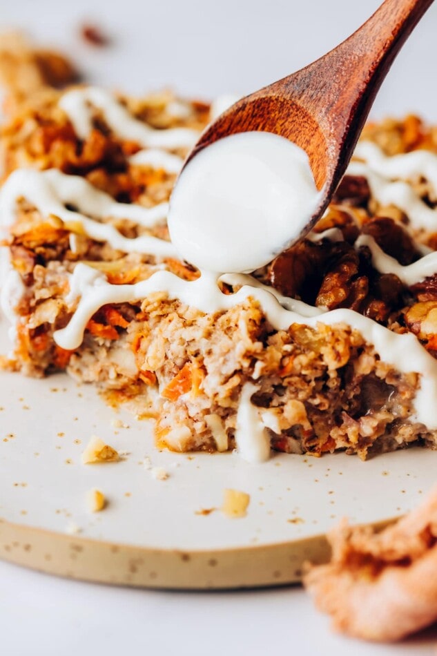
[[[424,280],[428,276],[437,273],[437,252],[432,251],[429,255],[420,258],[417,262],[402,266],[398,260],[387,255],[378,246],[370,235],[360,235],[355,242],[355,247],[367,246],[371,252],[372,264],[380,273],[394,273],[407,286]]]

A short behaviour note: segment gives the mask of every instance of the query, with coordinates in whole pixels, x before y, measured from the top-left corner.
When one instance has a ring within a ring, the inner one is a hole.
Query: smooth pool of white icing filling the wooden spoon
[[[271,133],[231,135],[185,166],[168,229],[179,255],[199,269],[254,271],[299,235],[318,200],[302,148]]]

